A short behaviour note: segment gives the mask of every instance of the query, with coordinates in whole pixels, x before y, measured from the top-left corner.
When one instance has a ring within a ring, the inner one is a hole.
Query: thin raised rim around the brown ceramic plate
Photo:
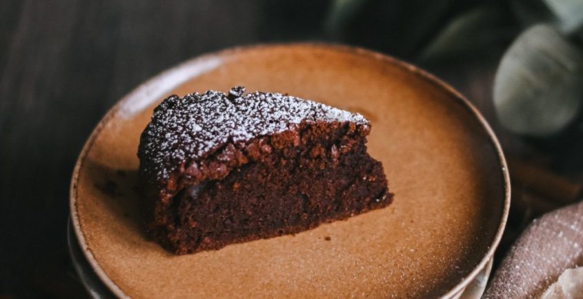
[[[83,231],[81,230],[81,224],[79,223],[79,215],[78,215],[78,211],[77,211],[77,183],[79,181],[79,171],[81,169],[81,166],[83,165],[83,161],[85,160],[92,144],[95,142],[95,139],[97,138],[97,136],[99,135],[99,133],[101,132],[101,130],[103,129],[105,124],[108,123],[108,121],[115,115],[115,113],[117,113],[123,107],[124,104],[126,104],[131,99],[133,99],[135,97],[135,95],[137,95],[139,93],[143,93],[145,90],[148,89],[148,87],[155,86],[155,84],[159,83],[159,81],[161,81],[164,77],[167,77],[167,76],[171,75],[172,73],[177,73],[177,71],[179,71],[181,69],[188,68],[189,66],[195,66],[197,64],[201,64],[204,61],[208,61],[209,59],[212,59],[212,58],[228,57],[228,55],[235,55],[235,54],[240,53],[240,52],[258,50],[258,49],[281,48],[281,47],[286,47],[286,48],[303,47],[303,48],[333,50],[333,51],[339,51],[339,52],[349,52],[349,53],[353,53],[356,55],[363,55],[363,56],[367,56],[367,57],[370,57],[373,59],[377,59],[379,61],[382,61],[383,63],[392,64],[394,66],[397,66],[399,68],[402,68],[402,69],[412,73],[413,75],[416,75],[417,77],[419,77],[419,79],[423,79],[426,82],[433,84],[437,88],[441,88],[442,90],[445,90],[447,93],[450,93],[453,96],[454,100],[457,101],[458,103],[462,104],[462,106],[464,106],[464,108],[468,109],[469,112],[473,115],[473,117],[475,117],[475,119],[480,123],[480,125],[484,129],[489,141],[494,146],[494,149],[495,149],[496,154],[497,154],[498,164],[499,164],[500,169],[502,171],[501,174],[502,174],[503,185],[504,185],[503,186],[504,187],[504,202],[503,202],[503,207],[502,207],[502,217],[501,217],[500,222],[498,224],[498,228],[497,228],[497,231],[494,235],[494,239],[491,242],[491,244],[489,245],[488,251],[486,251],[486,254],[482,257],[482,259],[474,267],[474,269],[470,273],[468,273],[467,276],[465,276],[462,279],[462,281],[458,282],[455,285],[455,287],[453,287],[452,289],[450,289],[449,291],[444,293],[444,295],[439,297],[439,299],[453,298],[455,295],[457,295],[458,293],[463,291],[468,286],[468,284],[470,284],[475,279],[475,277],[480,273],[480,271],[482,271],[482,269],[484,269],[484,267],[486,267],[486,265],[488,264],[488,261],[493,258],[493,255],[494,255],[497,247],[499,246],[500,241],[502,240],[502,235],[503,235],[504,229],[506,227],[508,213],[510,210],[510,202],[511,202],[510,175],[508,173],[508,166],[506,164],[506,158],[504,157],[504,152],[502,151],[502,146],[500,145],[500,142],[498,141],[493,129],[491,128],[490,124],[488,124],[488,122],[486,121],[486,119],[484,118],[482,113],[480,113],[480,111],[477,110],[477,108],[475,108],[475,106],[468,99],[466,99],[466,97],[464,97],[464,95],[462,95],[460,92],[455,90],[455,88],[453,88],[449,84],[446,84],[444,81],[442,81],[441,79],[439,79],[435,75],[432,75],[428,71],[423,70],[422,68],[419,68],[417,66],[414,66],[413,64],[410,64],[408,62],[399,60],[399,59],[392,57],[390,55],[385,55],[385,54],[382,54],[379,52],[375,52],[373,50],[368,50],[366,48],[357,47],[357,46],[346,46],[346,45],[342,45],[342,44],[324,43],[324,42],[299,42],[299,43],[292,42],[292,43],[273,43],[273,44],[253,44],[253,45],[248,45],[248,46],[236,46],[233,48],[226,48],[224,50],[207,52],[207,53],[204,53],[202,55],[197,55],[196,57],[187,59],[186,61],[183,61],[175,66],[167,68],[166,70],[163,70],[161,73],[158,73],[157,75],[150,77],[150,79],[147,79],[143,83],[139,84],[136,88],[133,88],[132,90],[130,90],[129,93],[127,93],[126,95],[121,97],[121,99],[119,99],[116,102],[116,104],[114,104],[108,110],[108,112],[103,117],[101,117],[101,119],[99,120],[99,123],[92,130],[92,132],[89,135],[88,139],[86,140],[85,144],[83,144],[83,148],[81,149],[81,153],[79,153],[79,157],[77,157],[77,160],[75,162],[75,168],[73,169],[73,173],[72,173],[72,177],[71,177],[70,191],[69,191],[70,220],[72,221],[72,226],[73,226],[73,229],[75,231],[75,235],[77,236],[77,241],[79,242],[79,246],[81,247],[81,251],[83,252],[83,255],[85,255],[86,260],[89,262],[90,266],[95,271],[95,273],[97,274],[99,279],[118,298],[131,299],[130,296],[128,296],[125,292],[123,292],[119,288],[119,286],[117,284],[115,284],[115,282],[113,282],[113,280],[111,280],[109,278],[109,276],[107,276],[105,271],[103,271],[103,269],[101,269],[101,267],[99,266],[99,263],[97,262],[97,260],[93,256],[93,254],[91,253],[91,251],[88,247],[88,244],[86,243],[85,236],[83,235]],[[186,78],[186,80],[184,80],[184,81],[187,81],[188,79],[192,79],[192,77]],[[184,81],[179,82],[177,85],[184,83]]]

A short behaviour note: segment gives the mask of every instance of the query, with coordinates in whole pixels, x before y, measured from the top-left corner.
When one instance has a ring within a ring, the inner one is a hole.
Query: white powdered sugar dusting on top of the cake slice
[[[300,122],[368,125],[358,113],[281,93],[244,91],[237,86],[228,95],[208,90],[165,99],[141,135],[138,155],[148,176],[168,179],[181,161],[204,158],[228,142],[281,133]]]

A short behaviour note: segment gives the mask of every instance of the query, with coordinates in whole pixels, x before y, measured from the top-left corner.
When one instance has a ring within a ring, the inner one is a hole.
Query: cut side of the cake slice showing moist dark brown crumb
[[[257,140],[250,146],[257,150],[248,155],[260,161],[235,168],[222,180],[184,186],[172,203],[177,234],[184,235],[167,246],[177,253],[219,249],[298,233],[391,202],[381,164],[366,153],[362,139],[348,134],[348,124],[332,130],[328,124],[304,126],[301,144],[295,146],[293,136]],[[340,153],[354,139],[359,142]]]

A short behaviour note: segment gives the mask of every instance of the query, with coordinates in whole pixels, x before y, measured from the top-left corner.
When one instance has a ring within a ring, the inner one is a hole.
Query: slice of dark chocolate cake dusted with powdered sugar
[[[362,115],[279,93],[172,95],[138,157],[150,235],[175,253],[297,233],[391,203]]]

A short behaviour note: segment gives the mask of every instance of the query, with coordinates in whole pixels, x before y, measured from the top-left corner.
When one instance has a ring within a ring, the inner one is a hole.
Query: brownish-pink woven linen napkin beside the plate
[[[583,202],[534,220],[508,251],[483,298],[539,299],[566,269],[577,266],[583,266]]]

